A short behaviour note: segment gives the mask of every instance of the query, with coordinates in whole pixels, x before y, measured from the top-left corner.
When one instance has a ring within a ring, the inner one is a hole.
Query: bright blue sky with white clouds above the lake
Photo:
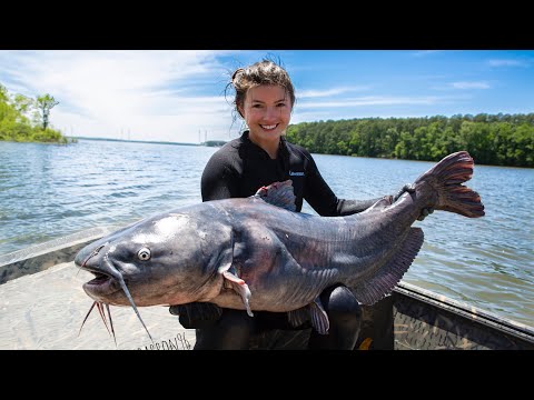
[[[66,136],[230,140],[231,73],[278,60],[295,86],[291,123],[534,112],[534,50],[0,50],[9,93],[49,93]]]

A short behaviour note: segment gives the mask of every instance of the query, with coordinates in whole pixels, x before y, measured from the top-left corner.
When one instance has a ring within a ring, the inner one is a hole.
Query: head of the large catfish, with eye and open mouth
[[[95,274],[83,290],[99,302],[128,306],[128,296],[139,307],[194,302],[217,291],[214,260],[230,247],[230,234],[212,220],[165,213],[86,246],[75,264]]]

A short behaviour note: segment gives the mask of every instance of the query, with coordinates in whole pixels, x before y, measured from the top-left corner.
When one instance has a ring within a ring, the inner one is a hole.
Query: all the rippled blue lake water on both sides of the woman
[[[0,254],[200,202],[216,148],[80,140],[0,142]],[[340,198],[395,193],[433,162],[314,154]],[[534,170],[475,166],[486,216],[436,211],[404,281],[534,326]],[[303,211],[315,213],[307,204]]]

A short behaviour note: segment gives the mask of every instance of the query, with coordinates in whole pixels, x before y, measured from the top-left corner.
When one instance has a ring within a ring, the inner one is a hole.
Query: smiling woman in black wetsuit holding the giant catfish
[[[209,159],[201,178],[202,201],[245,198],[276,181],[290,179],[297,212],[303,199],[324,217],[348,216],[370,207],[367,201],[338,199],[320,176],[310,153],[287,142],[284,133],[295,104],[295,89],[287,72],[268,60],[237,69],[229,83],[235,107],[248,130],[226,143]],[[403,188],[396,196],[409,188]],[[328,334],[310,329],[309,322],[294,328],[284,312],[220,309],[210,303],[174,306],[185,328],[197,328],[195,349],[355,347],[360,329],[360,307],[350,290],[327,288],[320,301],[328,314]],[[309,340],[308,340],[309,339]]]

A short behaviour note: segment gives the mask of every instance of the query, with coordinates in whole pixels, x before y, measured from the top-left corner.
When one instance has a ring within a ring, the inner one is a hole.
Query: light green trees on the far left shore
[[[60,131],[50,128],[50,110],[59,104],[50,94],[32,99],[9,93],[0,83],[0,140],[67,143]]]

